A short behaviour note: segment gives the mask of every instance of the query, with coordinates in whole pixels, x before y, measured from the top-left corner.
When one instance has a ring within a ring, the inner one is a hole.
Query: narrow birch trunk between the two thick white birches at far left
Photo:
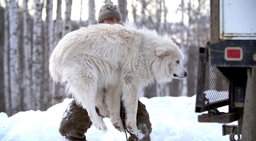
[[[23,0],[23,48],[24,48],[24,109],[32,109],[31,105],[31,85],[32,85],[32,37],[31,37],[31,21],[29,11],[27,9],[27,0]]]

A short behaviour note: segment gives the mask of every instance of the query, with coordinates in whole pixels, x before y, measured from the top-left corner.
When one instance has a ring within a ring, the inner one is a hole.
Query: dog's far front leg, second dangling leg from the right
[[[116,130],[124,132],[124,126],[120,117],[121,108],[121,89],[118,85],[109,86],[106,90],[105,103],[109,110],[109,116],[111,117],[111,123]]]

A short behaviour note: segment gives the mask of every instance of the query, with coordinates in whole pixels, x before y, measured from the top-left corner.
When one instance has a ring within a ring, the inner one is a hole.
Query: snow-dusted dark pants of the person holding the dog
[[[96,111],[99,115],[98,108],[96,108]],[[121,118],[123,113],[125,112],[122,110],[121,106]],[[75,100],[73,100],[63,114],[62,121],[59,127],[59,133],[70,141],[86,141],[85,133],[87,132],[88,128],[91,127],[91,125],[92,122],[89,118],[87,111],[82,107],[76,105]],[[150,133],[152,131],[150,118],[145,105],[142,104],[140,101],[138,102],[137,110],[137,127],[138,131],[140,132],[139,138],[134,134],[129,133],[131,136],[128,138],[128,140],[150,141]]]

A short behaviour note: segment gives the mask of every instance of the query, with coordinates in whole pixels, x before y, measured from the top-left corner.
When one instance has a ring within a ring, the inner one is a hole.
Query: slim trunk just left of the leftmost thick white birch
[[[5,111],[11,115],[12,99],[10,84],[10,31],[9,31],[9,3],[5,0],[6,7],[4,9],[4,101]]]

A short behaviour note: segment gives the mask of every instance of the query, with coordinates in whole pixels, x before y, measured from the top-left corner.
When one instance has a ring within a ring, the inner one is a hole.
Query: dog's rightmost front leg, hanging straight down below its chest
[[[126,126],[130,133],[138,135],[137,129],[137,109],[138,109],[138,98],[139,98],[139,86],[136,83],[125,83],[122,101],[124,102],[126,110]]]

